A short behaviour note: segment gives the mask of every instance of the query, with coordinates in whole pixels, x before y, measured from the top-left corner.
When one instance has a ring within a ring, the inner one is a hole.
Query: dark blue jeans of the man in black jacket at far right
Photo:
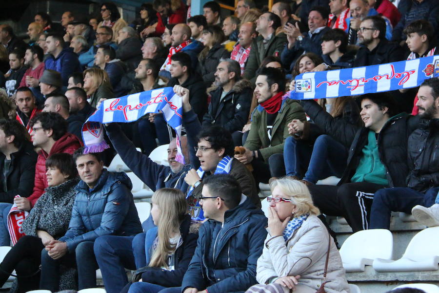
[[[408,187],[384,188],[375,192],[370,214],[370,229],[389,229],[392,211],[410,214],[416,205],[431,207],[435,203],[439,187],[425,193]]]

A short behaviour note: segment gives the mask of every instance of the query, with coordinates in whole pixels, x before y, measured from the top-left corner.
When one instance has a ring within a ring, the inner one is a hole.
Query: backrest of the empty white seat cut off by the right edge
[[[413,236],[402,258],[414,261],[439,256],[439,227],[427,228]]]

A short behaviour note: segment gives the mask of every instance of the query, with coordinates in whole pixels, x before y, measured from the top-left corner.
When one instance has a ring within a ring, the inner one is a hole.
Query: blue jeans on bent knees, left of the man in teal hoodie
[[[286,175],[303,177],[313,184],[329,176],[341,177],[348,155],[346,147],[326,134],[320,135],[314,146],[290,136],[285,140],[283,154]]]

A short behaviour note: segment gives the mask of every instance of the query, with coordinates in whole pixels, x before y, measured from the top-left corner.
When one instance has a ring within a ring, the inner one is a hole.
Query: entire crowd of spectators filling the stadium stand
[[[154,0],[135,20],[104,2],[100,16],[39,12],[26,40],[0,24],[0,285],[15,270],[16,292],[93,288],[100,269],[109,293],[348,293],[324,215],[354,232],[390,229],[392,211],[439,226],[439,78],[286,92],[303,73],[434,56],[438,33],[436,0],[208,1],[202,15]],[[103,100],[166,86],[180,141],[150,113],[105,124],[110,148],[84,153]],[[148,157],[165,144],[169,166]],[[116,153],[154,191],[143,223],[130,178],[104,167]]]

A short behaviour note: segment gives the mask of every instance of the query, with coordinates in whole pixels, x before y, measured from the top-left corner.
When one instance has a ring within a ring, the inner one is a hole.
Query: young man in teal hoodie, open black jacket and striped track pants
[[[308,187],[322,213],[345,217],[354,232],[369,228],[375,191],[405,187],[407,139],[419,121],[405,113],[397,114],[395,101],[385,93],[365,94],[359,100],[363,127],[334,120],[325,111],[320,111],[314,120],[327,134],[349,147],[349,155],[337,186]],[[312,105],[315,106],[317,103]]]

